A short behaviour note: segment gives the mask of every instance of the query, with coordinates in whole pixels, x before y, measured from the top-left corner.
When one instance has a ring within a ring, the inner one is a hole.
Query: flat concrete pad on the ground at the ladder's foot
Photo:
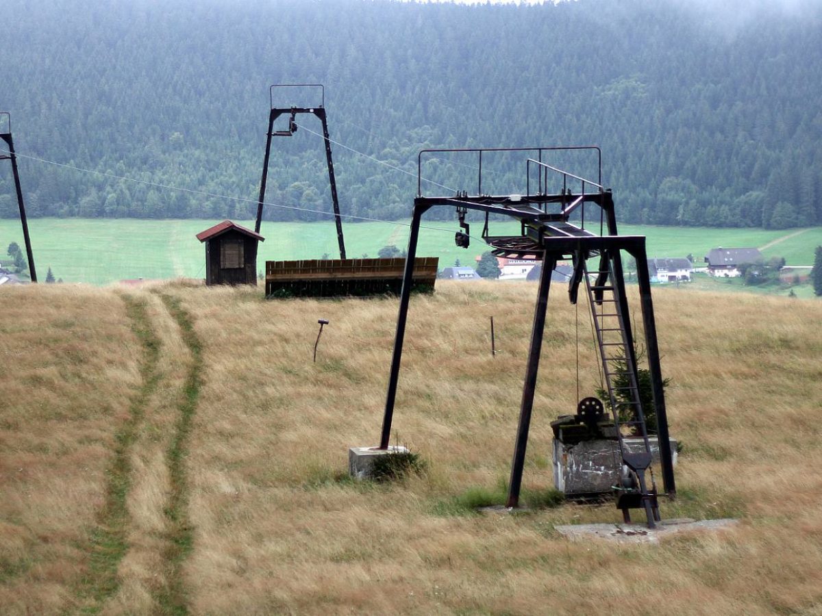
[[[656,528],[647,524],[577,524],[555,526],[562,536],[570,540],[606,539],[619,543],[658,543],[663,537],[682,531],[718,531],[737,526],[738,520],[724,518],[721,520],[691,520],[683,517],[676,520],[663,520]]]

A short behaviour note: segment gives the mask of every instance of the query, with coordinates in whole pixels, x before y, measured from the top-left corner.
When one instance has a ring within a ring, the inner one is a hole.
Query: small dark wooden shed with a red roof
[[[265,241],[259,233],[224,220],[197,239],[205,242],[205,284],[256,284],[257,242]]]

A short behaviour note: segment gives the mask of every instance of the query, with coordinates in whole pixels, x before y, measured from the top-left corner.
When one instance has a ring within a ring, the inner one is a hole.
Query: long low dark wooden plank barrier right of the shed
[[[433,292],[438,257],[414,260],[413,289]],[[266,261],[266,297],[399,295],[405,259]]]

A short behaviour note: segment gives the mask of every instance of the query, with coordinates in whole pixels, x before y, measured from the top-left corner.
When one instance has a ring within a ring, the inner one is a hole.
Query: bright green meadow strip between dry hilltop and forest
[[[66,282],[106,284],[124,278],[205,277],[205,256],[196,233],[218,221],[35,218],[30,220],[35,264],[41,278],[50,267]],[[253,221],[241,222],[253,228]],[[456,223],[431,221],[420,234],[421,255],[438,256],[447,267],[459,259],[473,264],[487,250],[479,239],[468,250],[454,245]],[[516,223],[494,225],[493,231],[518,232]],[[439,229],[439,230],[438,230]],[[481,225],[473,225],[478,234]],[[822,228],[764,231],[762,229],[671,228],[624,225],[624,234],[648,237],[649,256],[694,255],[701,262],[716,246],[773,246],[766,256],[783,256],[788,264],[811,265]],[[797,234],[797,231],[801,231]],[[346,250],[351,257],[376,256],[387,244],[408,245],[407,223],[344,223]],[[260,246],[258,269],[265,260],[316,259],[339,256],[333,221],[326,223],[263,223],[266,241]],[[0,219],[0,260],[11,241],[22,246],[20,223]]]

